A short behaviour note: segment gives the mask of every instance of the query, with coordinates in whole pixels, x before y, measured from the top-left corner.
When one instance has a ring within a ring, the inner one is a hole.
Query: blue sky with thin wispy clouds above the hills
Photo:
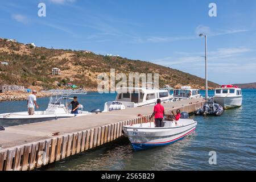
[[[46,17],[38,4],[46,4]],[[209,3],[217,17],[208,15]],[[30,0],[0,1],[0,37],[39,47],[86,49],[151,61],[209,80],[256,82],[256,1]]]

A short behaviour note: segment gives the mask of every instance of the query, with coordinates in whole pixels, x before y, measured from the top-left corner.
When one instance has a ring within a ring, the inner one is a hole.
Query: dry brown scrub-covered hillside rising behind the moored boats
[[[123,57],[109,57],[64,49],[33,48],[22,43],[7,42],[0,39],[0,61],[9,65],[0,65],[0,84],[40,86],[44,89],[57,88],[57,85],[72,82],[96,90],[99,73],[109,73],[114,68],[116,73],[159,73],[160,86],[171,85],[180,88],[190,85],[204,89],[204,79],[156,65],[146,61],[130,60]],[[61,75],[52,76],[52,68],[60,68]],[[209,82],[209,88],[218,85]]]

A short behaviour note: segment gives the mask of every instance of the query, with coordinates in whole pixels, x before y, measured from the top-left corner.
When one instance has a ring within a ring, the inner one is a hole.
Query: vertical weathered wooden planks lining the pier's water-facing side
[[[193,113],[204,102],[166,110],[180,109]],[[121,137],[122,127],[148,121],[151,115],[120,121],[109,125],[65,134],[22,146],[0,150],[0,171],[27,171],[46,166],[69,156],[112,142]]]

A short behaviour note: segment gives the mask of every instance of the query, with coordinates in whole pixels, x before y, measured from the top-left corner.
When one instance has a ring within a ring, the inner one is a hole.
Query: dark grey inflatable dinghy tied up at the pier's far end
[[[204,104],[203,107],[195,111],[196,115],[216,115],[220,116],[224,109],[220,104],[214,103],[213,98]]]

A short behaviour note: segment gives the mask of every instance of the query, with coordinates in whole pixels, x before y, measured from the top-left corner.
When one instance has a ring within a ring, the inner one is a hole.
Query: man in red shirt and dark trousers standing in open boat
[[[158,99],[157,102],[158,104],[155,105],[154,113],[151,115],[150,119],[155,116],[155,127],[164,127],[164,107],[161,105],[160,99]]]

